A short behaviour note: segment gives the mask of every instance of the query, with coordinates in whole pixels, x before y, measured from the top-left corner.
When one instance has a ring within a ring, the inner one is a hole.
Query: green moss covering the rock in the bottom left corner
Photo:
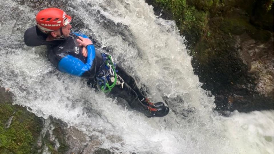
[[[11,124],[6,123],[13,116]],[[39,120],[25,108],[9,102],[0,103],[0,153],[36,153],[32,151],[36,138],[41,130]],[[38,132],[37,132],[38,130]]]

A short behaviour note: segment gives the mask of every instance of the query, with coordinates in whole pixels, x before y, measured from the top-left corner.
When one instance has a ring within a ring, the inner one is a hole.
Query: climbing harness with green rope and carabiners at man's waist
[[[102,53],[102,57],[104,58],[103,61],[105,65],[97,75],[96,79],[100,90],[103,92],[110,92],[117,82],[117,74],[115,70],[116,64],[113,62],[110,55]],[[112,82],[111,85],[109,81]]]

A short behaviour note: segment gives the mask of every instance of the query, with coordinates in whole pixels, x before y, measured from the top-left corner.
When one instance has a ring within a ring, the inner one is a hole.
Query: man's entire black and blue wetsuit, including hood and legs
[[[47,35],[35,26],[27,29],[24,40],[28,46],[47,45],[48,58],[58,70],[71,75],[96,80],[96,75],[105,65],[104,58],[100,52],[95,50],[94,45],[86,46],[88,54],[87,57],[84,57],[82,55],[82,47],[76,41],[78,36],[88,38],[86,35],[70,33],[69,37],[63,39],[46,41]],[[151,116],[148,113],[147,106],[140,101],[144,100],[145,96],[136,86],[134,78],[119,64],[116,65],[116,70],[118,70],[118,79],[124,83],[116,84],[109,94],[125,99],[135,110]],[[168,111],[164,112],[163,116],[168,113]]]

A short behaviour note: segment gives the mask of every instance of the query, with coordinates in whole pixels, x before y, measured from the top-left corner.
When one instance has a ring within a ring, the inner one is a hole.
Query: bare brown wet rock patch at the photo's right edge
[[[237,36],[236,40],[240,58],[247,65],[249,75],[256,78],[255,90],[265,97],[272,97],[273,39],[262,43],[244,34]]]

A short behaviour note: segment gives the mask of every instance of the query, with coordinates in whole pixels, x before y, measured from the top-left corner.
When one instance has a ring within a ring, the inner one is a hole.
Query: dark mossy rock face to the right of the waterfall
[[[172,14],[215,110],[273,109],[273,1],[147,2]]]

